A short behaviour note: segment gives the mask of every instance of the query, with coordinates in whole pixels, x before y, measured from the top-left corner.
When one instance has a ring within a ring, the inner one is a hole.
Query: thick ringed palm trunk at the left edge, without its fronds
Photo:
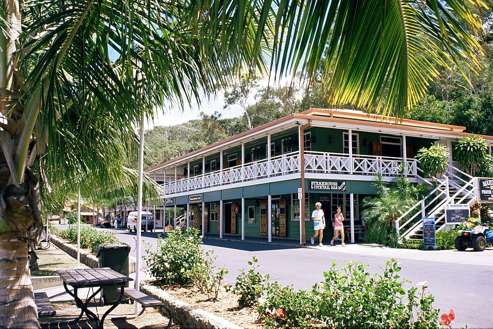
[[[28,242],[42,227],[39,190],[25,159],[16,166],[25,124],[15,57],[21,31],[19,1],[0,0],[0,15],[6,22],[0,33],[0,112],[4,118],[0,120],[0,328],[39,328],[28,257]]]

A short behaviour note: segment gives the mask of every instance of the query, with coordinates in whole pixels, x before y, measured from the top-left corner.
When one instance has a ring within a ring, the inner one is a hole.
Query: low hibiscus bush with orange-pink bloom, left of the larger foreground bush
[[[317,297],[310,291],[294,290],[277,281],[268,283],[257,311],[267,327],[306,328],[316,319]]]

